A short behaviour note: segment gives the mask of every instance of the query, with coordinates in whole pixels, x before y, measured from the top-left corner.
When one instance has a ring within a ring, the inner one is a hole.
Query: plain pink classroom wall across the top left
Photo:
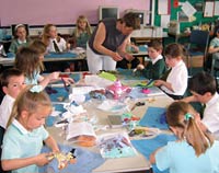
[[[74,24],[84,14],[91,24],[99,21],[99,5],[117,5],[120,16],[126,9],[150,10],[151,0],[1,0],[0,26]]]

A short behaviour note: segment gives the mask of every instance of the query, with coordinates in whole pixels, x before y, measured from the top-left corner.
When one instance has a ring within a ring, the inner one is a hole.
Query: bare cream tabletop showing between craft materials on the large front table
[[[150,101],[149,97],[130,100],[127,104],[129,107],[132,107],[137,101],[146,102],[145,106],[136,107],[131,111],[131,113],[136,116],[142,117],[146,109],[150,106],[154,107],[165,107],[168,104],[172,103],[173,100],[165,95],[164,93],[159,96],[153,96],[153,102]],[[88,113],[95,114],[99,118],[99,124],[107,125],[107,115],[112,114],[108,112],[103,112],[97,109],[95,106],[90,104],[83,104],[84,108]],[[62,145],[74,146],[72,141],[65,140],[65,136],[60,136],[60,129],[56,127],[47,127],[49,134]],[[114,131],[123,131],[126,130],[124,128],[115,128],[107,130],[99,130],[96,135],[101,135],[104,132],[114,132]],[[91,151],[99,152],[96,147],[89,148]],[[118,158],[118,159],[107,159],[102,165],[93,170],[93,173],[116,173],[116,172],[152,172],[151,165],[149,161],[140,153],[131,158]]]

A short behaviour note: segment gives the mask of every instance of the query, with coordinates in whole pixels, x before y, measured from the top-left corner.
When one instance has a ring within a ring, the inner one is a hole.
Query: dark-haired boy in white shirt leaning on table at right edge
[[[219,94],[216,81],[207,72],[198,72],[188,81],[192,96],[183,99],[185,102],[199,102],[205,104],[203,124],[215,137],[219,139]]]

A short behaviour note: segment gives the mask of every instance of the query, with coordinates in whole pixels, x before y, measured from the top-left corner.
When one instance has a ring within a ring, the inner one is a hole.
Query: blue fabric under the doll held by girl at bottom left
[[[68,153],[71,151],[70,146],[59,146],[61,152]],[[50,152],[50,149],[44,147],[42,152]],[[54,159],[50,163],[45,166],[39,168],[39,173],[91,173],[92,170],[100,166],[105,162],[101,154],[91,152],[82,148],[76,148],[74,155],[77,162],[74,164],[68,164],[64,170],[58,170],[58,161]]]

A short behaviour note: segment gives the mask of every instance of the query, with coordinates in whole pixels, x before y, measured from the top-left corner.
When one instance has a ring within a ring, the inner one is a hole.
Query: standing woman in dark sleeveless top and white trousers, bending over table
[[[116,61],[134,57],[126,53],[126,43],[134,30],[140,28],[140,19],[127,13],[123,19],[104,19],[94,30],[87,47],[89,71],[115,70]]]

